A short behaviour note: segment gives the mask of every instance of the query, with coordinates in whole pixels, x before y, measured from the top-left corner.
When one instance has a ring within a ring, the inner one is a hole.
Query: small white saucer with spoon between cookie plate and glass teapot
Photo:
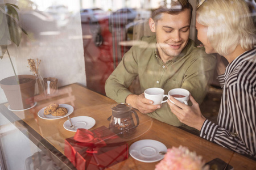
[[[71,129],[71,123],[69,122],[69,120],[65,121],[63,126],[65,129],[69,130],[69,131],[76,131],[79,128],[82,129],[90,129],[92,128],[96,121],[94,120],[94,118],[89,117],[89,116],[77,116],[77,117],[72,117],[71,118],[72,124],[75,126],[74,129]]]

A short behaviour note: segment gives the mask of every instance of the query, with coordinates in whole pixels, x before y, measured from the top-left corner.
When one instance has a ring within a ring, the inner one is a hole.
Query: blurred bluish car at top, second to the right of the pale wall
[[[121,24],[125,25],[130,22],[133,22],[133,20],[136,18],[138,12],[134,10],[133,8],[121,8],[115,12],[113,12],[109,16],[109,22],[112,24]]]

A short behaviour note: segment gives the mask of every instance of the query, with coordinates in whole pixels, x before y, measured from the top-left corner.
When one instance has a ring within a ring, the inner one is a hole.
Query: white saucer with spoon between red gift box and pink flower
[[[167,151],[167,147],[163,143],[151,139],[134,142],[129,148],[131,157],[147,163],[163,159],[164,155],[159,154],[160,151]]]

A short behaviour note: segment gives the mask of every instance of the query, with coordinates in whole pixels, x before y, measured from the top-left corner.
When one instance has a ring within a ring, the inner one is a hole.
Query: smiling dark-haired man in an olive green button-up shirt
[[[174,126],[182,124],[167,103],[153,105],[144,94],[132,94],[127,88],[138,76],[142,92],[159,87],[167,94],[173,88],[185,88],[197,102],[203,101],[216,59],[189,39],[192,6],[188,0],[179,2],[175,8],[152,12],[148,23],[155,36],[143,37],[141,45],[131,47],[105,84],[108,97]]]

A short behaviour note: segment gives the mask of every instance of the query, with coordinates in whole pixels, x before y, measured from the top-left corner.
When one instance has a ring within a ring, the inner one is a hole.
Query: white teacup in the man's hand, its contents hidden
[[[163,100],[164,97],[169,98],[168,95],[164,95],[164,90],[158,87],[147,88],[144,91],[144,96],[146,99],[152,100],[153,104],[162,104],[168,100]]]

